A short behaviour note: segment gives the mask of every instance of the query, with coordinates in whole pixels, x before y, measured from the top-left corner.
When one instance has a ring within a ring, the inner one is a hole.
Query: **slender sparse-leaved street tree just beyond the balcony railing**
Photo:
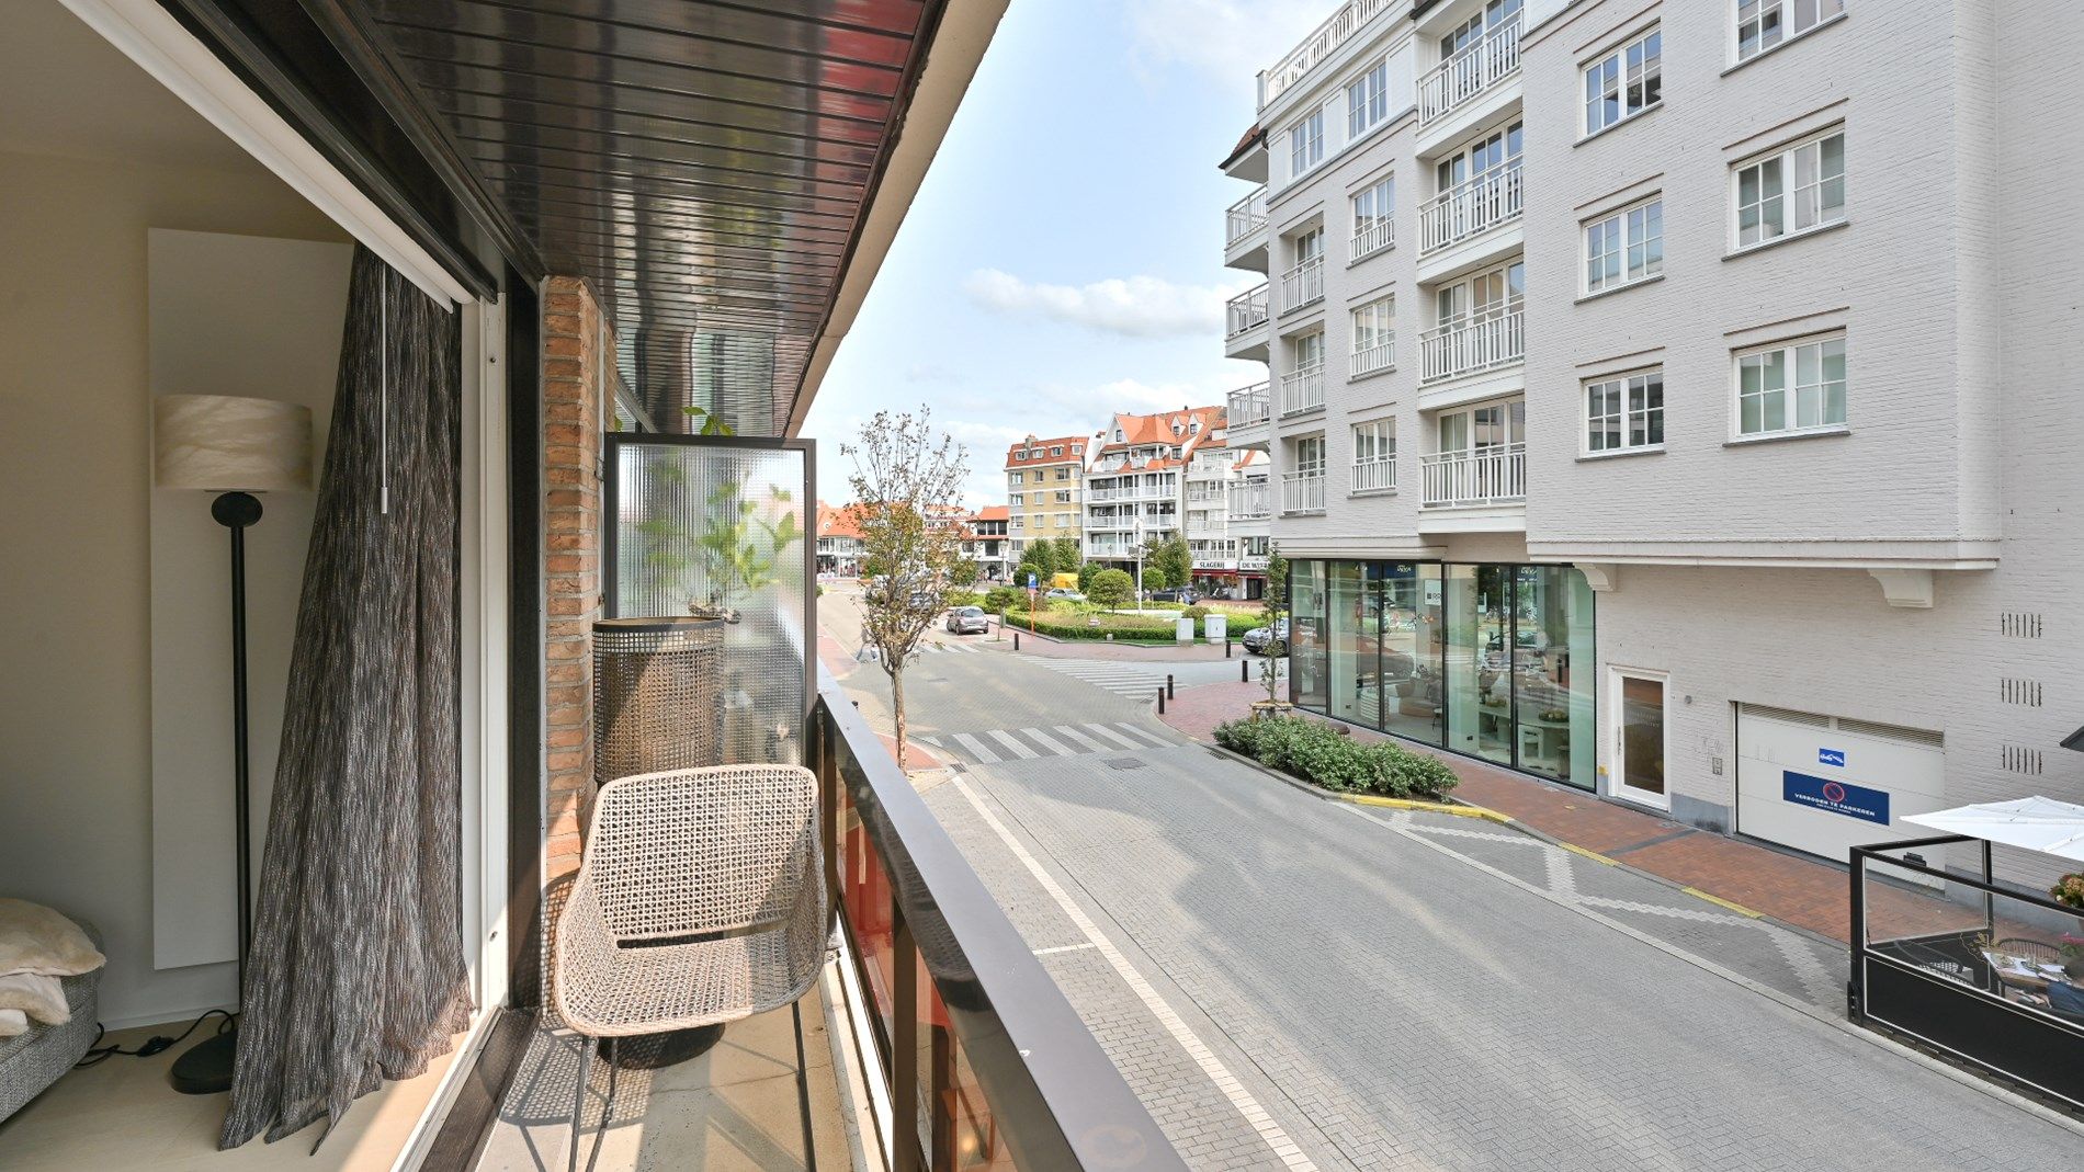
[[[863,602],[863,641],[890,677],[890,712],[896,720],[898,768],[904,768],[904,664],[934,620],[946,610],[963,564],[963,535],[954,525],[929,525],[961,504],[969,464],[946,433],[932,427],[932,412],[875,412],[854,443],[840,454],[854,460],[848,485],[869,562],[890,566],[890,581]]]

